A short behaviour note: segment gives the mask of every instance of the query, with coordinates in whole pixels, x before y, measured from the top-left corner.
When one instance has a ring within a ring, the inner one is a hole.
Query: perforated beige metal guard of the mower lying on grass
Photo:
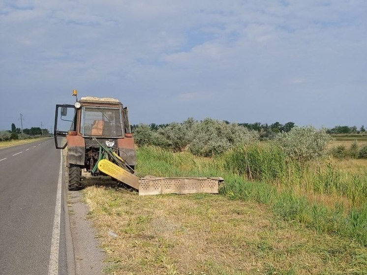
[[[223,178],[154,178],[139,180],[139,195],[218,193]]]

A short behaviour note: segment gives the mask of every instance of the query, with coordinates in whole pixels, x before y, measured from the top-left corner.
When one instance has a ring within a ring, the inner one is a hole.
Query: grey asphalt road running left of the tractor
[[[55,255],[51,243],[60,158],[61,152],[55,149],[53,139],[0,149],[1,275],[68,274],[64,184],[60,230],[56,230],[60,236],[56,246],[58,265],[52,273],[49,271],[50,254]]]

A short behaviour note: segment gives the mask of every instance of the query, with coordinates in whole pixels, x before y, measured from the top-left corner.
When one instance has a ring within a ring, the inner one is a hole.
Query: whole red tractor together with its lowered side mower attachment
[[[86,96],[74,105],[58,104],[54,138],[57,149],[65,149],[68,189],[83,188],[82,170],[92,176],[107,175],[139,191],[160,193],[218,193],[222,178],[138,177],[136,153],[127,107],[115,98]]]

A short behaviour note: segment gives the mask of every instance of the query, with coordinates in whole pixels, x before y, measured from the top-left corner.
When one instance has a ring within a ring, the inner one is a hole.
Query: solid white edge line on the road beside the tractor
[[[59,244],[60,244],[60,217],[61,217],[61,178],[62,178],[62,150],[60,150],[60,170],[56,193],[54,226],[52,228],[51,254],[48,264],[48,275],[59,274]]]

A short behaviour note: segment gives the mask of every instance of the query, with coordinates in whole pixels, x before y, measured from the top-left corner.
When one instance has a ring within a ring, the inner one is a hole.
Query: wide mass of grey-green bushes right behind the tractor
[[[191,153],[202,156],[223,153],[234,146],[259,140],[258,132],[235,123],[213,119],[198,122],[192,118],[155,130],[147,124],[139,124],[134,128],[134,137],[140,146],[155,145],[175,152],[187,148]]]

